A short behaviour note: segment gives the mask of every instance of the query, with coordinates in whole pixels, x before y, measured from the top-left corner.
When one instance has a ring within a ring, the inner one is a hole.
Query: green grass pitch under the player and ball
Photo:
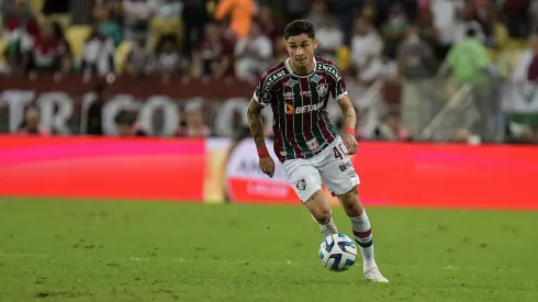
[[[3,200],[0,300],[538,301],[537,213],[369,216],[390,284],[323,268],[302,206]]]

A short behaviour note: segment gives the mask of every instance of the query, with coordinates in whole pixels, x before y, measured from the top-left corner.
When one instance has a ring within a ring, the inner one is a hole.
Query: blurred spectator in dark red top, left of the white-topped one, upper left
[[[67,74],[70,68],[68,46],[57,27],[46,22],[40,35],[24,43],[24,66],[27,72]]]

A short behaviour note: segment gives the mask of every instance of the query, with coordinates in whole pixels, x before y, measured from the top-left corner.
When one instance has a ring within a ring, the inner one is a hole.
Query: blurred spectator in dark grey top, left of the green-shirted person
[[[415,27],[407,31],[407,37],[399,45],[397,60],[404,79],[402,120],[411,135],[418,137],[436,113],[431,78],[437,72],[437,61]]]

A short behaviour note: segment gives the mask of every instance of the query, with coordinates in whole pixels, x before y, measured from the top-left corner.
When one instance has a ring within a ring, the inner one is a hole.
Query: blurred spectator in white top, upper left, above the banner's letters
[[[105,76],[114,72],[114,41],[94,29],[82,49],[80,70],[85,77]]]

